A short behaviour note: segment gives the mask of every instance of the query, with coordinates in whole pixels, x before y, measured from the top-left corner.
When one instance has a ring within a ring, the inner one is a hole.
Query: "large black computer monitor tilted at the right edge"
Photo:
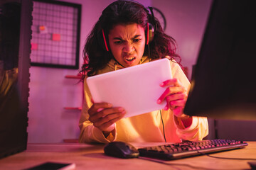
[[[256,120],[255,21],[255,1],[213,1],[184,113]]]

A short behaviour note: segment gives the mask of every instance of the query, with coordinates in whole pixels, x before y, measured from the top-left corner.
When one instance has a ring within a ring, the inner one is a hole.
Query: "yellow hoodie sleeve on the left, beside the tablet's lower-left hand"
[[[84,81],[84,102],[82,106],[82,113],[80,115],[79,120],[79,128],[80,128],[80,136],[79,136],[79,142],[100,142],[100,143],[107,143],[112,142],[115,140],[116,130],[108,137],[105,137],[102,133],[102,131],[98,128],[96,128],[89,120],[89,114],[88,109],[92,106],[92,97],[89,91],[89,88],[86,83],[86,78]]]

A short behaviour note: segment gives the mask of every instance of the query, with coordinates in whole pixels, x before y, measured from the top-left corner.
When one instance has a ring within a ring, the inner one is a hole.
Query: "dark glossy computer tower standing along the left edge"
[[[0,158],[27,146],[32,6],[0,1]]]

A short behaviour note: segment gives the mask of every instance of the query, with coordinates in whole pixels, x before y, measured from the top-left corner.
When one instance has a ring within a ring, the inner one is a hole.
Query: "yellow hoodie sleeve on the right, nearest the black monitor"
[[[186,91],[189,91],[191,84],[181,67],[176,62],[171,61],[171,73],[174,78],[178,79],[178,81],[183,84],[183,86],[186,88]],[[208,135],[208,120],[205,117],[193,116],[191,126],[188,128],[184,128],[184,126],[183,128],[178,128],[182,126],[182,122],[178,121],[178,125],[176,124],[177,135],[181,137],[182,140],[203,140],[203,137]]]

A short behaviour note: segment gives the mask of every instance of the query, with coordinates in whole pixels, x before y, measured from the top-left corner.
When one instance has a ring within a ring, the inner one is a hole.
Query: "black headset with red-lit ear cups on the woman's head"
[[[151,12],[151,14],[149,14],[149,11],[142,4],[139,4],[139,2],[137,2],[137,1],[130,1],[130,2],[133,2],[134,4],[137,4],[138,6],[143,8],[144,11],[146,11],[146,13],[147,13],[148,18],[152,18],[152,21],[154,21],[154,13],[153,13],[153,8],[152,7],[149,7],[149,10]],[[112,4],[110,4],[109,6],[111,6]],[[147,23],[146,24],[145,38],[146,38],[146,45],[149,45],[149,43],[154,39],[154,25],[153,25],[153,23]],[[104,47],[105,50],[110,51],[110,45],[108,45],[107,37],[105,36],[105,30],[102,29],[102,35],[101,35],[101,38],[99,38],[99,39],[100,39],[100,41],[102,39],[102,42],[100,42],[100,44],[103,43],[102,47]]]

